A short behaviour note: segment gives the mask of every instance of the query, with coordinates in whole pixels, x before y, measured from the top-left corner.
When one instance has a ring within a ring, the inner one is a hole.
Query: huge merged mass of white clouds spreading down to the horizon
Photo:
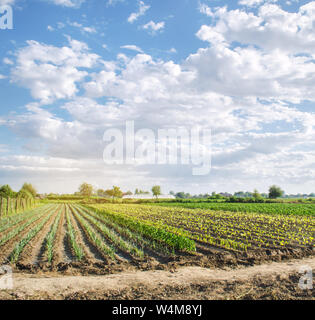
[[[58,178],[63,170],[73,185],[87,177],[133,188],[131,177],[137,177],[144,187],[171,180],[172,188],[192,192],[254,189],[257,181],[262,189],[278,183],[297,192],[303,183],[313,191],[315,114],[300,108],[315,101],[313,6],[295,13],[268,3],[254,12],[204,8],[215,17],[197,32],[204,48],[177,63],[135,45],[123,47],[136,55],[105,61],[82,42],[61,48],[29,42],[17,52],[12,80],[39,103],[0,123],[28,137],[29,152],[45,150],[48,160],[0,157],[2,170],[26,174],[38,166],[42,176]],[[61,106],[67,119],[44,106],[56,99],[67,99]],[[155,132],[211,129],[211,175],[193,177],[189,166],[105,166],[104,130],[123,130],[127,120]]]

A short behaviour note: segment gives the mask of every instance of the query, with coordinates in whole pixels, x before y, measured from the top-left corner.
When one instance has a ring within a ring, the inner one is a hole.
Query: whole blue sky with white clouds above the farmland
[[[0,0],[0,184],[315,192],[315,1]],[[104,131],[212,132],[212,170],[108,165]]]

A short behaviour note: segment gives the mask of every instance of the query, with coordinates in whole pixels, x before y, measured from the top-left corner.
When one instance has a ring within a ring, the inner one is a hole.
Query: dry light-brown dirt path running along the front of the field
[[[15,274],[2,299],[315,299],[301,290],[302,266],[315,258],[238,269],[185,267],[175,272],[136,271],[108,276]]]

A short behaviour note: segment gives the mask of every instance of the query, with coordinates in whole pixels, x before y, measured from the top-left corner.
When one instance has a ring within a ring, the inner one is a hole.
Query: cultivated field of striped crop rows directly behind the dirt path
[[[314,243],[310,215],[50,203],[0,220],[0,263],[23,272],[253,265],[313,255]]]

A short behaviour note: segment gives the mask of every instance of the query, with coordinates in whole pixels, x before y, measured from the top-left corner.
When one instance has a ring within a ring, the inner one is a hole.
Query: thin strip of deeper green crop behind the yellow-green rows
[[[267,213],[274,215],[298,215],[315,216],[315,204],[304,203],[178,203],[178,202],[160,202],[150,203],[163,207],[179,207],[190,209],[209,209],[244,213]]]

